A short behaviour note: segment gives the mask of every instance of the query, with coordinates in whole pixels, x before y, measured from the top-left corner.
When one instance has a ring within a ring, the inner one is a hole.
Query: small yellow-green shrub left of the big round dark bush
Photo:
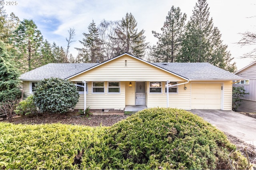
[[[28,96],[26,100],[20,101],[14,110],[17,115],[37,115],[36,105],[34,103],[34,96]]]

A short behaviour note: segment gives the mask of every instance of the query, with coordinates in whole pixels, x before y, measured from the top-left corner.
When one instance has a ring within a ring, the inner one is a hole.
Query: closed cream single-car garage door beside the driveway
[[[221,83],[191,83],[191,109],[221,109]]]

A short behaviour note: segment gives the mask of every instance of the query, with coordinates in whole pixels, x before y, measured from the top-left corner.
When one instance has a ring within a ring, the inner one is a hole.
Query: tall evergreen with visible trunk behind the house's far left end
[[[43,37],[34,21],[24,19],[15,30],[15,34],[16,47],[19,52],[18,64],[22,72],[42,66],[39,50]]]

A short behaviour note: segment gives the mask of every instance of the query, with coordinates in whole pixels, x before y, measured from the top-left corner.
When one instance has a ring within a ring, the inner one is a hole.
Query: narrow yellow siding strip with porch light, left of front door
[[[135,105],[135,82],[125,82],[125,105]]]

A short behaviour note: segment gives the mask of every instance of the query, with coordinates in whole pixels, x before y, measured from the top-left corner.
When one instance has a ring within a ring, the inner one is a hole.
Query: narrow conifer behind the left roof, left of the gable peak
[[[102,58],[101,41],[99,39],[98,29],[94,20],[88,26],[89,33],[83,33],[84,38],[79,41],[83,47],[76,48],[79,51],[79,55],[82,55],[84,60],[89,59],[90,63],[96,63],[97,60]]]

